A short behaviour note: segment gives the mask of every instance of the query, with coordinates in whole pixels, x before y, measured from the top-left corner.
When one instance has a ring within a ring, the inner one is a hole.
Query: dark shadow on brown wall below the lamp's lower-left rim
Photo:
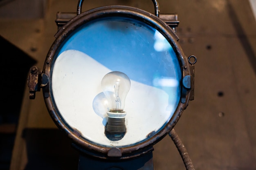
[[[27,147],[25,170],[77,170],[79,152],[58,129],[24,129]]]

